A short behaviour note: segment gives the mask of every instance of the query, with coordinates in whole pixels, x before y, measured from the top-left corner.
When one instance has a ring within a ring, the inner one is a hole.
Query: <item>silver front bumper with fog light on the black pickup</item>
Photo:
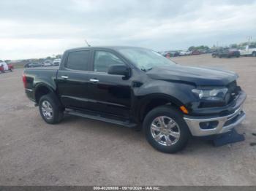
[[[243,111],[243,103],[246,98],[246,95],[238,98],[236,101],[236,110],[225,116],[184,116],[185,122],[189,127],[192,136],[211,136],[221,133],[227,133],[227,131],[236,127],[240,124],[246,117],[246,114]]]

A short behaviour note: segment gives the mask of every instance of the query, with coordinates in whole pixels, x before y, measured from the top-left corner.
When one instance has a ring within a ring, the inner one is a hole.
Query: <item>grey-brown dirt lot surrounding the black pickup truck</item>
[[[236,71],[247,93],[246,140],[213,147],[192,139],[176,155],[154,150],[142,132],[67,116],[48,125],[26,98],[23,70],[0,74],[1,185],[256,185],[256,58],[174,58]]]

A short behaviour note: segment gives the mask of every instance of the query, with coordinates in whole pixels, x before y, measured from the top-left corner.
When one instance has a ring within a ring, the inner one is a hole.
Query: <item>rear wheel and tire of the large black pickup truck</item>
[[[39,99],[39,112],[45,122],[49,124],[61,122],[64,116],[63,111],[64,109],[53,93],[42,95]]]

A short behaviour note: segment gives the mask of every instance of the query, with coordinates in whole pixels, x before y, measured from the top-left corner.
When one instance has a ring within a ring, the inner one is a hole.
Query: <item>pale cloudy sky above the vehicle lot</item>
[[[256,0],[0,0],[0,59],[45,58],[73,47],[186,50],[256,41]]]

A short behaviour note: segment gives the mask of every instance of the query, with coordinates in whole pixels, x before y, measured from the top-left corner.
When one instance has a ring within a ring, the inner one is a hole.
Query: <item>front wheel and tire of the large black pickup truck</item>
[[[181,112],[172,106],[159,106],[148,112],[143,121],[143,130],[148,143],[166,153],[181,151],[190,137]]]

